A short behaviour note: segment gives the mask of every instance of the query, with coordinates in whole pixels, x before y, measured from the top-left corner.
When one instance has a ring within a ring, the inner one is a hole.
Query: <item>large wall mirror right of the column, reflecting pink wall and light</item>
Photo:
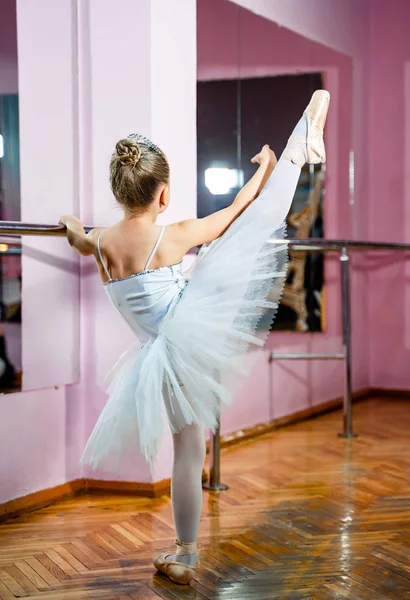
[[[230,204],[254,172],[251,157],[269,143],[278,158],[312,93],[331,91],[327,140],[334,154],[302,170],[288,236],[341,235],[349,203],[350,132],[338,124],[350,107],[351,60],[229,0],[198,0],[198,216]],[[347,100],[341,102],[341,100]],[[336,140],[336,141],[335,141]],[[328,143],[328,147],[329,147]],[[322,332],[326,270],[321,254],[290,252],[288,279],[273,328]]]

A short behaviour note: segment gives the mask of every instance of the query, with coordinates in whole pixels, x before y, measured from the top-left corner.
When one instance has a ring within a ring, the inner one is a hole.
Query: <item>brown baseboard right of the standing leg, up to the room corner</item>
[[[354,392],[353,402],[366,400],[372,395],[373,390],[371,390],[370,388],[363,388],[361,390],[358,390],[357,392]],[[241,429],[233,433],[221,435],[221,448],[227,448],[228,446],[233,446],[234,444],[252,440],[255,437],[259,437],[266,433],[270,433],[281,427],[294,425],[295,423],[299,423],[300,421],[306,421],[308,419],[324,415],[328,412],[338,410],[342,406],[343,398],[335,398],[334,400],[323,402],[322,404],[318,404],[317,406],[310,406],[309,408],[305,408],[291,415],[286,415],[278,419],[266,421],[265,423],[259,423],[258,425],[254,425],[253,427],[247,427],[246,429]],[[207,448],[209,450],[209,442],[207,444]]]

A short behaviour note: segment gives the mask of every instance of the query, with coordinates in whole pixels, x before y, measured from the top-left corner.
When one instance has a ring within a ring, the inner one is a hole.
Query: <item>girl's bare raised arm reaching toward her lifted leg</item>
[[[203,219],[189,219],[174,225],[178,228],[178,237],[180,236],[181,244],[186,246],[186,251],[219,238],[259,196],[275,168],[277,159],[269,146],[265,145],[259,154],[254,156],[252,162],[259,164],[259,168],[230,206]]]

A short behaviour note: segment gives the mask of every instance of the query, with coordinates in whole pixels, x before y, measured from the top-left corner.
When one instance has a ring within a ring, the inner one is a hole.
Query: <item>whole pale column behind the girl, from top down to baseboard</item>
[[[171,163],[165,222],[196,215],[196,2],[181,0],[77,0],[79,44],[80,207],[90,224],[121,218],[108,183],[115,143],[129,133],[150,137]],[[164,222],[164,221],[163,221]],[[86,428],[91,430],[105,396],[107,371],[133,335],[105,297],[97,274],[84,264],[82,335],[88,382]],[[169,477],[168,428],[156,479]],[[150,481],[139,457],[129,457],[116,478]],[[110,474],[88,473],[112,478]]]

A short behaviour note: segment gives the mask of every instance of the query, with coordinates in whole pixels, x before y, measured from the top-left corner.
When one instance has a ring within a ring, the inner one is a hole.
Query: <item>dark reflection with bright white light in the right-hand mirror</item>
[[[242,182],[252,177],[252,156],[265,142],[284,148],[312,93],[322,87],[320,73],[242,79],[240,98],[234,80],[198,83],[199,216],[232,203]],[[288,217],[289,237],[323,236],[321,188],[321,178],[306,166]],[[320,331],[322,286],[322,256],[292,251],[274,328]]]

